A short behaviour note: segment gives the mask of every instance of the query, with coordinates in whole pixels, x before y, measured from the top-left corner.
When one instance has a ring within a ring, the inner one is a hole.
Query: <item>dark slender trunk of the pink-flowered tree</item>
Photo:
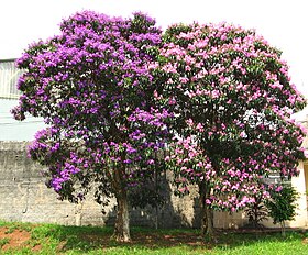
[[[213,229],[213,214],[209,204],[206,203],[206,199],[209,197],[210,191],[207,189],[205,182],[199,185],[200,195],[200,209],[201,209],[201,234],[207,240],[213,240],[215,229]]]

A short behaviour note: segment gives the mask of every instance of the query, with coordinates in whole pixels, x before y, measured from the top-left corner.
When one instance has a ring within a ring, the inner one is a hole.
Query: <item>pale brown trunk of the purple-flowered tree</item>
[[[123,171],[122,168],[114,169],[113,187],[118,203],[117,219],[114,224],[114,240],[119,242],[130,242],[130,215],[129,215],[129,201],[128,191],[123,182]]]

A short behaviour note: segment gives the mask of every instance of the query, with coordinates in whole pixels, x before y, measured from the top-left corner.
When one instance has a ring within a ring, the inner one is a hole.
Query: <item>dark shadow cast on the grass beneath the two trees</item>
[[[140,248],[158,250],[185,246],[188,251],[200,252],[211,250],[235,248],[238,246],[250,246],[256,243],[294,242],[305,240],[307,234],[289,232],[287,237],[279,233],[232,233],[229,231],[218,232],[218,242],[204,242],[196,230],[152,230],[132,228],[131,243],[119,243],[111,240],[112,228],[98,226],[63,226],[63,225],[38,225],[32,230],[33,240],[45,240],[54,243],[56,252],[79,251],[88,253],[96,250],[109,248]]]

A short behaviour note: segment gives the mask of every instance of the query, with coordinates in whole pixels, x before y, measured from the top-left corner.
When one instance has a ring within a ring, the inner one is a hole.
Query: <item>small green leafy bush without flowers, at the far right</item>
[[[274,224],[292,221],[296,217],[296,200],[298,192],[292,185],[271,188],[271,199],[266,202],[268,213],[273,218]]]

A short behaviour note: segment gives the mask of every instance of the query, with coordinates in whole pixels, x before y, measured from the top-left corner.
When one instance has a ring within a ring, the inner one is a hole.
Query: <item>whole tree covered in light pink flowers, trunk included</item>
[[[199,187],[202,233],[212,210],[235,212],[268,197],[262,179],[298,174],[304,129],[292,114],[306,102],[280,52],[254,31],[228,24],[176,24],[164,34],[153,74],[156,99],[174,112],[167,158],[179,195]]]

